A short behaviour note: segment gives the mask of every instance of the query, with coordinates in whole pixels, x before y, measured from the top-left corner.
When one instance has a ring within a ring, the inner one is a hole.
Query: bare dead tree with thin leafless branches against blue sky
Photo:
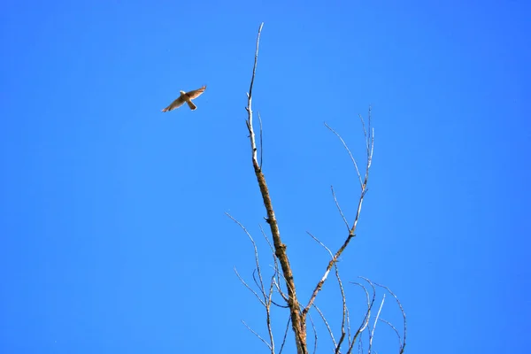
[[[367,183],[369,180],[369,170],[371,168],[371,164],[373,162],[373,147],[374,147],[374,131],[373,127],[371,127],[371,110],[369,109],[369,114],[367,117],[367,123],[365,119],[359,116],[361,120],[361,125],[363,127],[363,132],[365,135],[365,142],[366,142],[366,165],[365,165],[365,172],[360,172],[358,168],[358,163],[356,159],[353,157],[352,153],[350,152],[349,147],[347,146],[346,142],[343,141],[341,135],[339,135],[332,127],[329,127],[327,123],[325,123],[325,126],[337,136],[340,142],[342,142],[342,146],[344,149],[348,152],[350,161],[352,162],[354,166],[354,170],[357,173],[358,181],[360,185],[360,194],[358,199],[358,208],[356,215],[351,222],[349,223],[347,217],[342,212],[342,209],[337,202],[337,198],[335,197],[335,191],[334,188],[332,189],[332,197],[335,201],[335,206],[337,207],[337,210],[339,214],[342,217],[343,222],[346,225],[347,228],[347,235],[344,238],[344,241],[342,242],[341,247],[339,247],[338,250],[335,252],[329,250],[325,244],[320,242],[314,235],[309,235],[319,243],[330,255],[330,260],[327,263],[327,265],[324,265],[324,273],[321,276],[320,280],[315,286],[315,289],[313,289],[312,294],[309,296],[309,300],[306,302],[301,302],[300,298],[296,293],[296,282],[294,280],[294,275],[292,272],[292,268],[289,264],[289,257],[288,253],[286,251],[286,244],[282,242],[281,239],[281,232],[280,228],[277,222],[277,219],[275,218],[274,210],[273,210],[273,201],[271,199],[271,196],[269,194],[269,190],[267,188],[266,184],[266,176],[262,171],[262,147],[261,147],[261,136],[262,136],[262,121],[258,114],[258,120],[259,120],[259,137],[258,137],[258,144],[260,145],[259,149],[259,155],[260,158],[258,158],[258,146],[257,146],[257,138],[255,135],[254,125],[253,125],[253,111],[252,111],[252,89],[253,84],[255,80],[255,74],[257,70],[257,63],[258,63],[258,45],[260,42],[260,34],[262,32],[263,23],[260,25],[258,29],[258,37],[256,42],[256,51],[255,51],[255,58],[254,58],[254,65],[252,69],[252,76],[250,79],[250,89],[247,96],[247,113],[248,118],[246,120],[247,128],[249,130],[249,139],[250,139],[250,150],[251,150],[251,161],[252,166],[254,169],[254,173],[257,177],[258,181],[258,187],[260,189],[260,193],[262,195],[264,205],[266,207],[266,223],[269,225],[270,233],[271,233],[271,239],[273,242],[270,241],[269,237],[267,237],[265,230],[260,227],[262,235],[266,238],[267,243],[269,244],[269,247],[273,254],[273,274],[271,276],[267,277],[267,280],[264,278],[264,274],[262,272],[262,269],[260,267],[260,264],[258,262],[258,247],[253,240],[252,236],[250,235],[249,231],[243,227],[243,225],[235,219],[233,216],[229,215],[227,213],[227,216],[231,219],[233,219],[240,227],[242,227],[242,230],[249,236],[250,241],[252,242],[252,245],[254,247],[254,254],[255,254],[255,260],[256,260],[256,269],[253,273],[253,279],[255,282],[255,285],[258,288],[258,291],[254,289],[254,287],[251,287],[246,281],[242,279],[240,274],[237,274],[240,281],[242,281],[243,285],[249,289],[257,298],[260,304],[264,307],[266,310],[266,327],[267,327],[267,337],[268,339],[263,338],[260,336],[257,332],[255,332],[253,329],[251,329],[249,326],[247,326],[244,323],[248,329],[252,333],[258,336],[258,338],[264,342],[267,346],[267,348],[270,350],[272,354],[281,353],[284,349],[284,344],[286,343],[287,335],[289,332],[289,325],[291,326],[294,334],[294,340],[296,344],[296,350],[297,354],[308,354],[310,352],[308,348],[308,319],[310,319],[310,323],[312,325],[312,328],[314,330],[314,349],[317,348],[317,333],[315,332],[315,327],[313,326],[312,319],[309,317],[309,314],[312,309],[315,310],[319,314],[320,319],[322,319],[323,323],[325,324],[325,327],[327,328],[328,335],[330,335],[331,341],[334,344],[335,353],[351,353],[355,349],[355,345],[358,345],[358,351],[363,351],[363,343],[362,343],[362,335],[366,334],[366,337],[368,337],[368,341],[366,342],[366,348],[367,352],[371,353],[373,350],[373,336],[374,336],[374,329],[376,327],[376,324],[380,321],[391,327],[398,337],[398,352],[403,353],[405,349],[405,339],[406,339],[406,319],[405,319],[405,313],[404,309],[402,307],[402,304],[398,301],[398,298],[396,295],[387,287],[382,286],[380,284],[377,284],[373,281],[370,281],[366,278],[360,277],[365,283],[360,282],[350,282],[353,285],[356,285],[364,290],[366,294],[366,312],[362,316],[361,323],[356,329],[352,329],[350,326],[350,313],[347,306],[347,299],[345,296],[345,291],[343,289],[343,282],[339,275],[338,270],[338,259],[342,255],[343,250],[349,246],[350,242],[354,237],[356,237],[356,228],[358,226],[358,220],[362,209],[362,204],[364,201],[364,198],[366,196],[367,191]],[[342,296],[342,323],[341,323],[341,333],[337,337],[335,337],[328,321],[323,312],[319,310],[319,307],[316,305],[316,299],[318,298],[319,291],[323,289],[323,286],[325,285],[325,282],[328,279],[328,275],[330,272],[334,271],[335,273],[335,280],[339,284],[339,288],[341,290],[341,296]],[[367,286],[368,285],[368,286]],[[396,304],[398,305],[403,319],[403,335],[400,335],[399,331],[394,327],[389,321],[385,319],[380,318],[381,314],[381,308],[384,304],[385,295],[383,296],[380,305],[375,306],[375,299],[376,299],[376,288],[379,287],[381,289],[387,290],[391,296],[396,300]],[[278,294],[276,296],[280,296],[279,298],[284,304],[279,304],[280,302],[276,302],[273,300],[273,294]],[[273,335],[273,321],[272,321],[272,306],[279,306],[285,308],[287,311],[289,311],[289,321],[288,326],[286,327],[286,330],[284,332],[281,345],[277,346],[275,343],[275,338]],[[372,324],[371,324],[372,323]]]

